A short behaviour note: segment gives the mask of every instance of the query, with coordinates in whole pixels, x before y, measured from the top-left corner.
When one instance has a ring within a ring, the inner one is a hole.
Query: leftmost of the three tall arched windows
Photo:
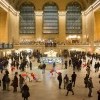
[[[31,3],[24,3],[20,7],[20,33],[35,33],[35,13]]]

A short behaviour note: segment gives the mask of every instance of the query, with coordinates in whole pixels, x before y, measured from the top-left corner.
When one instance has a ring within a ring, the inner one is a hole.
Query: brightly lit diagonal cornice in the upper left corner
[[[19,12],[16,11],[7,1],[0,0],[0,7],[7,12],[12,12],[14,15],[18,16]]]

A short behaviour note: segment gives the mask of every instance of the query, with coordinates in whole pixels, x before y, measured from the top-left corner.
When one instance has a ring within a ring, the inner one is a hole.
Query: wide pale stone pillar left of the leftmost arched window
[[[8,12],[8,34],[9,43],[19,42],[19,12],[16,14]]]

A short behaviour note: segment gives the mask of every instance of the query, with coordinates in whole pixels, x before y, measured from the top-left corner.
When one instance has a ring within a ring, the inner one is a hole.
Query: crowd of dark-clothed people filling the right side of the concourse
[[[64,89],[65,88],[67,89],[66,96],[68,95],[69,91],[71,91],[72,95],[74,95],[73,87],[75,87],[75,82],[77,77],[75,71],[76,70],[80,71],[82,67],[85,67],[86,76],[84,77],[83,80],[84,80],[85,88],[89,89],[88,97],[92,97],[92,88],[94,88],[94,86],[93,86],[93,81],[90,72],[92,67],[94,67],[95,73],[99,72],[100,56],[98,54],[90,54],[85,52],[70,52],[69,60],[68,61],[65,60],[64,65],[65,65],[65,69],[67,69],[67,67],[72,66],[73,74],[70,80],[67,74],[64,76],[64,78],[62,78],[61,73],[58,74],[57,79],[59,82],[59,89],[61,89],[62,80],[64,80]],[[100,100],[100,90],[97,91],[97,94],[98,94],[98,100]]]

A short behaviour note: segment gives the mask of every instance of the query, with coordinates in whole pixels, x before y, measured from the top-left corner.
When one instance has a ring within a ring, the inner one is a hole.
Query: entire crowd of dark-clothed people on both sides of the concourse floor
[[[14,77],[11,81],[9,77],[9,71],[7,70],[8,65],[11,66],[11,71],[13,72],[14,69],[20,70],[22,72],[25,72],[25,68],[29,67],[30,70],[32,70],[33,63],[31,61],[32,57],[34,56],[35,59],[37,59],[37,63],[41,63],[39,58],[41,57],[41,53],[37,50],[34,53],[25,53],[21,52],[20,54],[12,54],[8,57],[3,57],[0,59],[0,69],[1,73],[4,73],[4,76],[2,77],[0,84],[4,91],[9,91],[9,86],[11,83],[11,86],[13,87],[13,92],[17,92],[17,87],[20,87],[20,92],[22,93],[22,97],[24,100],[28,100],[28,97],[30,96],[29,93],[29,87],[27,83],[25,82],[25,78],[23,78],[22,74],[19,74],[18,72],[14,73]],[[27,59],[27,57],[29,59]],[[88,59],[87,59],[88,58]],[[9,62],[10,61],[10,62]],[[94,62],[94,64],[93,64]],[[84,86],[85,88],[88,88],[88,97],[92,97],[92,88],[93,81],[91,77],[91,67],[94,67],[95,73],[99,72],[100,69],[100,56],[99,54],[91,54],[86,52],[76,52],[71,51],[69,52],[67,58],[64,60],[64,68],[65,70],[68,67],[71,67],[73,69],[73,73],[71,75],[71,79],[68,77],[68,74],[64,77],[62,77],[62,73],[59,72],[57,80],[59,82],[59,89],[61,89],[62,82],[64,84],[64,89],[67,90],[66,96],[68,96],[69,91],[72,92],[72,95],[74,95],[73,87],[75,87],[75,83],[77,81],[77,74],[76,70],[80,71],[82,70],[82,67],[86,68],[86,76],[83,78]],[[43,63],[42,67],[38,67],[42,69],[43,74],[45,74],[46,64]],[[56,63],[53,62],[52,69],[54,72],[56,72]],[[30,73],[33,79],[37,81],[34,74]],[[19,77],[18,77],[19,76]],[[99,76],[99,75],[98,75]],[[99,82],[99,79],[98,79]],[[100,90],[97,90],[98,94],[98,100],[100,100]]]

